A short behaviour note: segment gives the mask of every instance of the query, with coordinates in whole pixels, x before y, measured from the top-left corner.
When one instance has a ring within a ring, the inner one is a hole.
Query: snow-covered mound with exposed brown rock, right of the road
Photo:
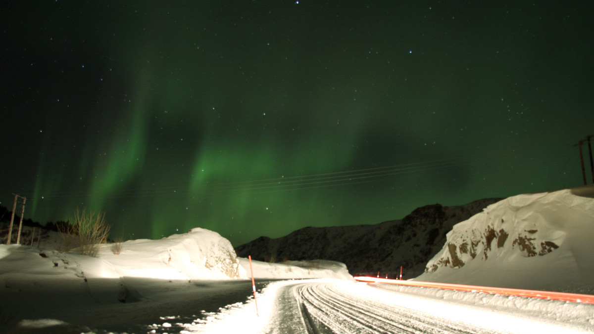
[[[594,186],[513,196],[447,234],[419,281],[594,294]]]

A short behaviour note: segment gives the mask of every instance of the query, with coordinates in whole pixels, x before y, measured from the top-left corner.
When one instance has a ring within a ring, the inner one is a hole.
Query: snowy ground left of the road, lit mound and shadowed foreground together
[[[152,330],[170,328],[173,320],[207,319],[252,294],[248,260],[236,257],[228,240],[203,228],[160,240],[125,241],[120,252],[105,244],[97,257],[52,249],[58,244],[59,236],[52,234],[40,249],[0,245],[0,332],[21,319],[15,333],[138,332],[130,322],[152,324]],[[345,265],[331,261],[254,261],[252,267],[258,285],[268,279],[352,280]]]

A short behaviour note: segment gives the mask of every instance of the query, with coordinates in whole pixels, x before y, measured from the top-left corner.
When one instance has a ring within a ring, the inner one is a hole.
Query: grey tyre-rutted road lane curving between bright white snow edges
[[[287,285],[277,295],[270,333],[493,333],[353,293],[329,282]],[[390,292],[386,292],[390,293]]]

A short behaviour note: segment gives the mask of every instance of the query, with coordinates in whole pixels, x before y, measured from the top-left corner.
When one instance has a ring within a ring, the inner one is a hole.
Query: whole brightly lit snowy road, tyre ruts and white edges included
[[[594,333],[594,306],[330,279],[282,281],[189,332]]]

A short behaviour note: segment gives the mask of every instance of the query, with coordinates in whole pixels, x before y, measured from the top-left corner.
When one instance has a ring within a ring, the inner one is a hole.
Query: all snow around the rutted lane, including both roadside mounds
[[[592,294],[593,232],[594,186],[513,196],[455,225],[416,279]],[[0,245],[0,332],[260,333],[279,321],[279,291],[302,283],[502,332],[594,332],[589,304],[365,284],[324,260],[252,262],[254,300],[248,259],[202,228],[97,257],[55,246]]]

